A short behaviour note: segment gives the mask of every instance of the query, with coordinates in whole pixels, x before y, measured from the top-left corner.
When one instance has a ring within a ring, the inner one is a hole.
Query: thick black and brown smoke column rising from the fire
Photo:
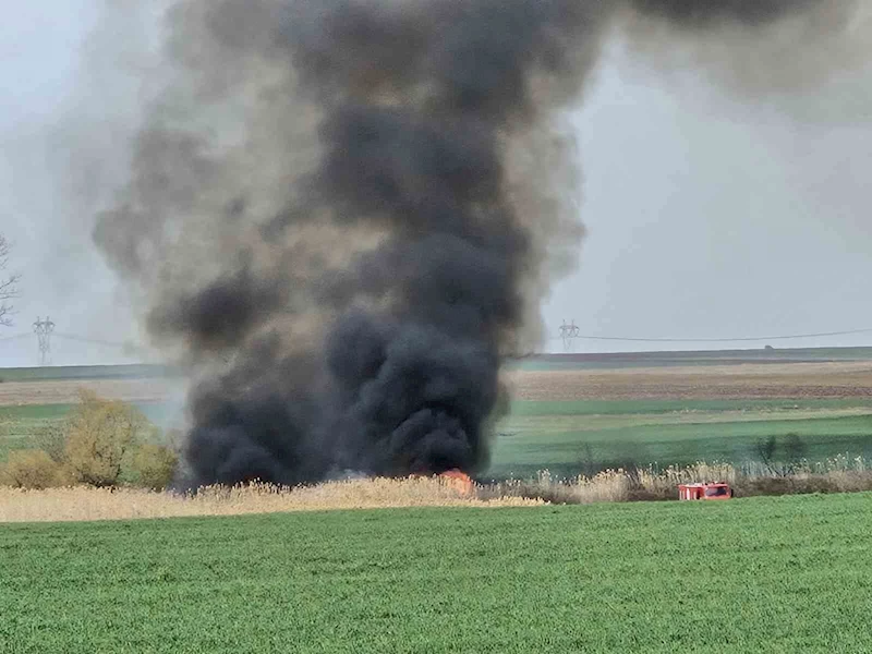
[[[813,4],[175,2],[95,240],[195,375],[185,483],[481,469],[500,361],[582,234],[561,111],[608,28]]]

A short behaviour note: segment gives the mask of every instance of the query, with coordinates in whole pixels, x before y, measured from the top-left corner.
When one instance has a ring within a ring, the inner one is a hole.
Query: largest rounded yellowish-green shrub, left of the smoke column
[[[133,446],[152,429],[142,412],[121,401],[80,391],[81,402],[66,425],[64,458],[76,483],[113,486]]]

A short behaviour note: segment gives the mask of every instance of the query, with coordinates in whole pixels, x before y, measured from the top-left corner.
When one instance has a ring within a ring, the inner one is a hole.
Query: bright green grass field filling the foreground
[[[872,496],[4,525],[4,654],[872,651]]]

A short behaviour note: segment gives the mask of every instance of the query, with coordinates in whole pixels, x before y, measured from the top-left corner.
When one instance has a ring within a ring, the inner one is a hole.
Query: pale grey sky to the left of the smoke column
[[[10,271],[22,275],[15,325],[0,339],[31,331],[37,316],[50,314],[58,332],[126,341],[131,313],[90,244],[88,208],[71,206],[65,187],[89,174],[86,161],[70,158],[83,149],[71,132],[80,121],[99,120],[83,111],[93,106],[83,98],[104,85],[84,88],[81,74],[97,3],[0,1],[10,4],[0,24],[0,231],[15,245]],[[119,348],[63,339],[52,350],[56,364],[129,360]],[[0,367],[36,363],[35,337],[0,340]]]

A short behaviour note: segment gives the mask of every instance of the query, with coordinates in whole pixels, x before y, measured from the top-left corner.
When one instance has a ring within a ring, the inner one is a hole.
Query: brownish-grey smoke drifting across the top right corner
[[[754,100],[825,93],[870,55],[859,0],[630,0],[625,43],[656,72],[695,70]]]

